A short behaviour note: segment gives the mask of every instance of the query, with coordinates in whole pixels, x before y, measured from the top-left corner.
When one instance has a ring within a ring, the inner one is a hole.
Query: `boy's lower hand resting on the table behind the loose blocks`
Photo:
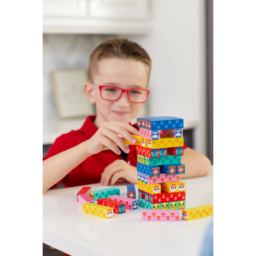
[[[128,182],[137,182],[137,167],[128,164],[126,161],[118,159],[108,165],[101,174],[101,185],[107,186],[108,183],[114,185],[119,179],[124,178]]]

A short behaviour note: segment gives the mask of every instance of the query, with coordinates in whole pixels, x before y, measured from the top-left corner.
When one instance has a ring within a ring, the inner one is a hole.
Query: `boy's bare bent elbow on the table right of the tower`
[[[212,166],[207,156],[191,148],[184,149],[181,163],[185,165],[185,174],[181,174],[181,179],[205,176],[210,173]]]

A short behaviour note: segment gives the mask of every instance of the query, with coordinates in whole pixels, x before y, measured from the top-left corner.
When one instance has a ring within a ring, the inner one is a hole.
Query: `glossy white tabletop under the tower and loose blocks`
[[[186,208],[213,203],[213,171],[204,177],[183,180]],[[100,184],[85,186],[92,190],[106,188]],[[143,222],[140,207],[102,219],[82,213],[76,201],[82,187],[47,191],[43,195],[43,242],[72,256],[149,256],[159,255],[160,251],[166,255],[196,256],[213,219],[210,216],[192,221]],[[120,188],[121,196],[126,196],[126,185],[115,187]]]

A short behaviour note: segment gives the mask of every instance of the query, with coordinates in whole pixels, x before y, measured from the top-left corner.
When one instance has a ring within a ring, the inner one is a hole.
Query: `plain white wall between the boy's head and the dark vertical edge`
[[[153,0],[152,15],[150,35],[128,36],[152,59],[149,114],[197,122],[195,149],[206,154],[204,1]]]

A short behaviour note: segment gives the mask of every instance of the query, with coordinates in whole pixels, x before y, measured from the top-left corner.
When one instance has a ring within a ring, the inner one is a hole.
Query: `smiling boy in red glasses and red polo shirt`
[[[84,91],[90,102],[96,103],[97,114],[87,117],[81,129],[61,135],[50,147],[43,158],[43,193],[60,182],[65,187],[137,182],[136,146],[126,146],[124,139],[135,143],[130,134],[139,134],[130,121],[148,98],[150,70],[146,51],[127,39],[106,41],[95,48]],[[206,156],[186,145],[182,164],[186,166],[182,178],[207,175],[211,169]]]

